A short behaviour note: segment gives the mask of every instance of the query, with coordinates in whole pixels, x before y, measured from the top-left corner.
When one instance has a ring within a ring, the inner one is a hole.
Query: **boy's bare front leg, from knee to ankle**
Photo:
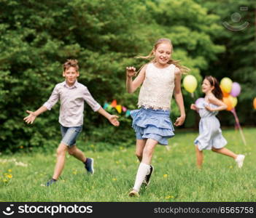
[[[63,171],[64,164],[65,164],[65,157],[66,157],[66,151],[68,150],[68,146],[61,143],[58,145],[57,149],[57,162],[55,164],[55,169],[53,173],[53,179],[58,179],[58,177],[61,175],[61,172]]]

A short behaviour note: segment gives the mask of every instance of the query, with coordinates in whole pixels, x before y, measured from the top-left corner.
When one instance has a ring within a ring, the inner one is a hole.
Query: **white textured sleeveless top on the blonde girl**
[[[139,91],[139,108],[155,110],[170,110],[171,98],[174,92],[175,65],[167,68],[157,68],[149,63],[145,72],[145,79]]]

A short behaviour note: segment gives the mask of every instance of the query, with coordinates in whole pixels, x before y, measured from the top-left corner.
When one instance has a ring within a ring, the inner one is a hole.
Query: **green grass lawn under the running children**
[[[93,176],[85,174],[82,163],[67,156],[63,174],[52,187],[42,185],[53,174],[54,153],[1,155],[0,201],[256,201],[256,129],[244,129],[247,145],[238,131],[222,132],[228,140],[226,148],[246,155],[242,169],[232,158],[212,151],[204,152],[203,169],[196,169],[193,140],[198,133],[177,132],[169,141],[170,150],[161,145],[155,149],[155,171],[139,198],[128,197],[139,166],[134,147],[85,151],[95,159]],[[27,166],[15,165],[18,162]]]

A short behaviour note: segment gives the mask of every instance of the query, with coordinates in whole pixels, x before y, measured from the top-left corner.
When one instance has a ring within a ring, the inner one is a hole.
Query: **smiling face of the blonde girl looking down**
[[[161,43],[158,45],[158,48],[155,49],[155,60],[158,65],[164,67],[171,58],[171,44]]]

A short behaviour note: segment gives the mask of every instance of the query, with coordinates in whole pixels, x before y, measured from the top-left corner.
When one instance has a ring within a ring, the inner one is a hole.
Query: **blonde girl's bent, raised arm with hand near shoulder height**
[[[133,93],[138,89],[138,87],[143,83],[145,79],[145,70],[147,65],[139,72],[139,75],[133,80],[133,76],[135,76],[136,68],[128,67],[126,68],[126,89],[128,93]]]

